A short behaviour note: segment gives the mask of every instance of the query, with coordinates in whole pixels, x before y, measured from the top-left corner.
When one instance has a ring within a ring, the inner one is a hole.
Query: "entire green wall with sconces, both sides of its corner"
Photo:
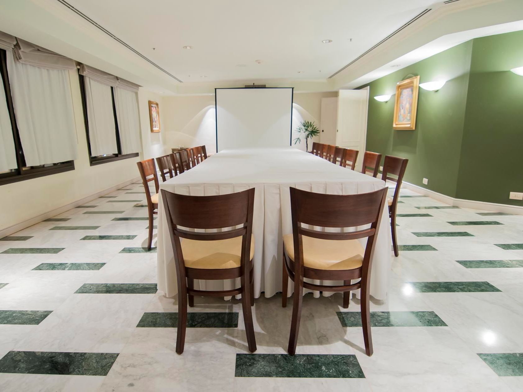
[[[523,32],[474,39],[374,80],[367,150],[409,159],[405,181],[453,198],[523,205]],[[416,129],[392,128],[397,82],[447,80],[419,89]],[[365,87],[365,86],[361,86]],[[423,185],[423,178],[428,185]]]

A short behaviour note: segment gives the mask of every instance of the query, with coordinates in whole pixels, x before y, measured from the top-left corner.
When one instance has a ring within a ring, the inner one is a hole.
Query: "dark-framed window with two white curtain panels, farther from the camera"
[[[87,65],[78,73],[90,164],[137,157],[138,86]]]

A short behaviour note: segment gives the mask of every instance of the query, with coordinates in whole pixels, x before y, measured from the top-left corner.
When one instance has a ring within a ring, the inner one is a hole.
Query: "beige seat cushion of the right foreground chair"
[[[352,270],[363,263],[365,249],[357,239],[333,240],[302,236],[303,265],[317,270]],[[292,234],[283,236],[283,246],[294,261]]]

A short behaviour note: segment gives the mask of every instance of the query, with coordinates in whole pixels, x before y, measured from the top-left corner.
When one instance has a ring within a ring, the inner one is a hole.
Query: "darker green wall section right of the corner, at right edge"
[[[523,31],[473,40],[457,197],[523,205]]]

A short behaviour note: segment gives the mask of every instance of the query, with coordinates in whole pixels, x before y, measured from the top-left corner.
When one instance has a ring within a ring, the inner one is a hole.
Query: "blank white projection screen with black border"
[[[217,152],[290,146],[292,92],[292,87],[215,89]]]

